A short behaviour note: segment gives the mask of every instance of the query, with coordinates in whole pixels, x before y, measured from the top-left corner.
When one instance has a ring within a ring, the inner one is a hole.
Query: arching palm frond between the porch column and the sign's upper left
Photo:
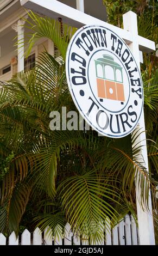
[[[58,47],[62,58],[66,58],[66,50],[68,46],[69,39],[77,31],[77,29],[63,25],[63,35],[61,35],[61,24],[58,21],[55,21],[50,18],[40,17],[37,14],[34,14],[32,11],[27,12],[29,19],[24,19],[26,25],[24,27],[28,28],[30,32],[26,33],[26,44],[27,50],[26,55],[30,54],[31,48],[34,46],[36,40],[39,38],[48,38],[54,42]],[[23,41],[17,41],[18,47],[23,47]]]

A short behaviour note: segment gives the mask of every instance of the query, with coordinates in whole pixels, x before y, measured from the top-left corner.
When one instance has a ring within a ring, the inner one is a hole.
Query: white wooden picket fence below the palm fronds
[[[108,225],[108,220],[105,221],[105,225]],[[65,225],[64,234],[61,235],[56,232],[55,236],[51,236],[47,231],[48,228],[42,234],[39,228],[36,228],[33,235],[25,229],[22,235],[16,237],[14,231],[7,240],[6,237],[0,233],[0,245],[138,245],[138,230],[135,220],[132,216],[126,215],[124,220],[117,224],[112,230],[106,231],[105,225],[100,225],[102,231],[102,238],[99,242],[95,243],[87,239],[87,237],[81,237],[79,234],[73,234],[71,225],[67,223]],[[58,226],[58,230],[62,230]],[[104,239],[105,238],[105,239]]]

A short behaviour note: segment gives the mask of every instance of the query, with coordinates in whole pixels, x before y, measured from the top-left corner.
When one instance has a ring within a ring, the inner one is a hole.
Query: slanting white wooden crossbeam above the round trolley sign
[[[61,17],[64,23],[77,28],[92,24],[103,25],[118,34],[127,44],[133,40],[132,34],[129,31],[96,19],[56,0],[21,0],[21,4],[23,7],[34,10],[36,13],[52,17],[53,19]],[[140,35],[137,35],[135,40],[138,41],[140,51],[151,52],[155,50],[155,44],[153,41],[143,38]]]

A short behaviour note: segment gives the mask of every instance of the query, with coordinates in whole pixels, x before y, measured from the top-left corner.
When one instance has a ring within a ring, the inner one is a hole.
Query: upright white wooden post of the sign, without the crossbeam
[[[123,15],[123,26],[124,26],[124,29],[126,29],[127,31],[130,31],[133,36],[133,42],[131,42],[128,46],[131,52],[134,54],[137,66],[140,69],[137,15],[132,11],[128,11],[128,13],[125,13]],[[141,128],[141,131],[146,130],[145,124],[144,124],[144,111],[142,111],[142,115],[136,129],[140,129],[140,128]],[[137,142],[140,143],[139,145],[143,145],[140,152],[140,159],[142,160],[142,157],[143,157],[144,167],[146,167],[148,172],[149,169],[148,169],[148,155],[147,155],[147,146],[146,146],[146,132],[141,133]],[[142,206],[140,205],[140,198],[141,198],[140,193],[141,193],[140,185],[137,183],[136,184],[136,204],[137,204],[138,233],[140,237],[140,245],[155,245],[151,193],[149,191],[149,210],[142,209]]]

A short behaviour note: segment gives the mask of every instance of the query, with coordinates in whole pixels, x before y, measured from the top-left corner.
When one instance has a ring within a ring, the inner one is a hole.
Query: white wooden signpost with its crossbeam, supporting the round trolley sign
[[[140,68],[140,54],[139,50],[143,52],[151,52],[155,50],[155,43],[142,36],[138,35],[137,31],[137,16],[132,11],[123,15],[124,29],[115,27],[109,23],[96,19],[90,15],[83,13],[84,5],[83,0],[77,0],[78,8],[81,11],[69,7],[66,4],[62,4],[56,0],[21,0],[21,4],[36,13],[40,13],[52,18],[61,17],[63,22],[74,27],[81,27],[84,25],[103,25],[113,32],[118,34],[129,45],[131,52],[134,54],[137,66]],[[144,113],[139,121],[139,125],[142,131],[145,131],[144,125]],[[140,156],[143,156],[145,167],[148,171],[148,155],[146,147],[146,134],[141,133],[137,140],[143,147],[141,149]],[[151,206],[151,194],[149,193],[149,211],[143,211],[140,206],[140,187],[136,184],[136,198],[137,198],[137,216],[138,216],[138,232],[140,238],[140,245],[154,245],[154,227],[153,227],[153,215]]]

